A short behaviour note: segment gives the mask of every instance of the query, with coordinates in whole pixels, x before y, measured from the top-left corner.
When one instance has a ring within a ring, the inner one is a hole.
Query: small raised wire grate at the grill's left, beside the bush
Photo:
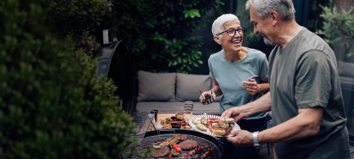
[[[151,124],[154,113],[131,113],[131,116],[133,117],[135,128],[125,138],[137,137],[138,140],[141,140]]]

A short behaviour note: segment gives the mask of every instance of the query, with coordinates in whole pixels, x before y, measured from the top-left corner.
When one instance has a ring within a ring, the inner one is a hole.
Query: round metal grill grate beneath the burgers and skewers
[[[151,147],[153,144],[159,144],[162,141],[172,138],[174,134],[163,134],[163,135],[155,135],[143,138],[141,141],[136,141],[130,145],[128,145],[123,151],[123,158],[124,159],[139,159],[141,158],[142,153],[148,148]],[[213,152],[208,157],[208,159],[220,159],[222,156],[222,149],[221,143],[216,142],[213,143],[207,139],[194,136],[194,135],[187,135],[188,139],[193,139],[198,142],[200,146],[206,146],[208,148],[212,148]],[[217,144],[217,145],[216,145]],[[194,156],[189,156],[188,159],[199,159],[200,155],[204,154],[207,148],[204,148],[202,152],[197,153]],[[182,159],[184,155],[187,155],[189,151],[182,151],[178,157],[174,157],[174,159]],[[168,159],[166,156],[164,159]]]

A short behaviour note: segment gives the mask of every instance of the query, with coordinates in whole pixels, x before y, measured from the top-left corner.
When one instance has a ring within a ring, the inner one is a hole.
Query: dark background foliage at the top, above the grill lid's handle
[[[44,9],[51,17],[50,30],[55,36],[70,36],[75,48],[92,55],[101,47],[95,31],[111,15],[112,5],[110,0],[48,0]],[[99,33],[102,35],[102,30]]]

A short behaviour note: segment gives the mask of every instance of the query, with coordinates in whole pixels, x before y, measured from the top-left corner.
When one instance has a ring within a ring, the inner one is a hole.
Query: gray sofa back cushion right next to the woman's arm
[[[177,73],[176,100],[199,101],[199,88],[202,92],[208,90],[212,78],[208,75]]]

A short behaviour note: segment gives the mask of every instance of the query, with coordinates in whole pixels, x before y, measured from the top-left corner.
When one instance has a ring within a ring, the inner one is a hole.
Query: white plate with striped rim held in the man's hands
[[[212,132],[210,132],[209,128],[207,129],[207,131],[202,131],[202,130],[199,130],[196,128],[195,124],[192,123],[193,119],[195,118],[202,118],[202,117],[206,117],[206,118],[218,118],[218,119],[221,119],[221,120],[224,120],[224,117],[221,117],[221,116],[217,116],[217,115],[209,115],[209,114],[203,114],[203,115],[195,115],[193,116],[192,118],[189,119],[188,123],[189,125],[191,125],[192,128],[195,129],[195,131],[199,131],[201,133],[204,133],[204,134],[207,134],[207,135],[210,135],[210,136],[217,136],[217,137],[230,137],[232,136],[231,134],[227,135],[227,136],[221,136],[221,135],[215,135],[213,134]],[[212,125],[215,125],[216,123],[213,123]],[[238,124],[230,124],[232,126],[232,129],[231,131],[236,131],[236,130],[241,130],[240,126]]]

